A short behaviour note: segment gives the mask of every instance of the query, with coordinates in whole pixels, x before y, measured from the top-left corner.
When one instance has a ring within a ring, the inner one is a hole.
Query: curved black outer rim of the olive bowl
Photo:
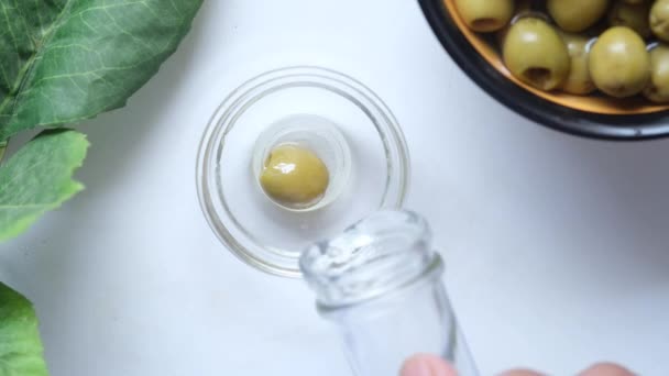
[[[669,111],[601,114],[567,108],[534,95],[509,80],[472,46],[446,9],[445,0],[418,1],[437,38],[456,64],[513,111],[545,126],[592,139],[635,141],[669,136]]]

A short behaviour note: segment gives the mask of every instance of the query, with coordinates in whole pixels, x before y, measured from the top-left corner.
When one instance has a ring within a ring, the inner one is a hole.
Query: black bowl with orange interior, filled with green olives
[[[581,136],[669,136],[669,0],[418,0],[483,90]]]

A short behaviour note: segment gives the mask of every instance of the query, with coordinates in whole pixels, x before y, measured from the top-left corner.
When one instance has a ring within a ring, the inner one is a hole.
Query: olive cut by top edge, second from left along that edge
[[[546,5],[560,29],[581,32],[606,13],[608,0],[547,0]]]

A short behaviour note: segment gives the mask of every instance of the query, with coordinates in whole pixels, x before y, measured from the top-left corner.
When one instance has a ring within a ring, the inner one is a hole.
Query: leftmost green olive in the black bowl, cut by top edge
[[[471,30],[484,33],[504,27],[514,13],[513,0],[456,0],[456,7]]]

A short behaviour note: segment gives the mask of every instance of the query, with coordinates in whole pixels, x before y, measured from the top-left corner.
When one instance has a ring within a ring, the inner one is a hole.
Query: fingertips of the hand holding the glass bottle
[[[401,376],[458,376],[458,372],[436,355],[419,354],[404,363]],[[530,369],[512,369],[500,376],[545,376],[545,374]],[[581,372],[579,376],[634,376],[634,374],[613,363],[599,363]]]

